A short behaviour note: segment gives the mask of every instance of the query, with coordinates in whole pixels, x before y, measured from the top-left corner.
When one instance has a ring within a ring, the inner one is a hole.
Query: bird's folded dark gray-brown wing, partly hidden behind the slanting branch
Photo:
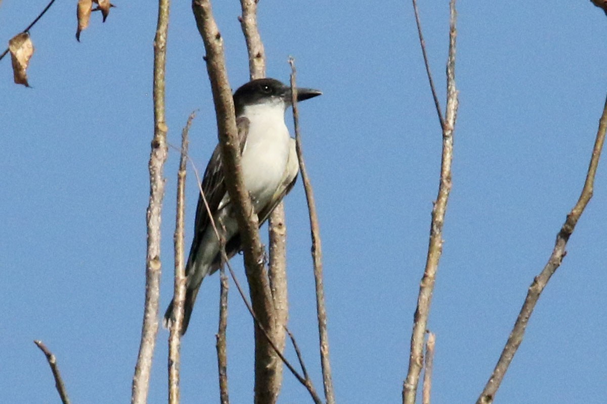
[[[238,137],[240,141],[240,153],[242,154],[245,147],[246,134],[248,133],[249,120],[245,117],[236,119],[236,127],[238,128]],[[209,204],[209,210],[216,212],[220,202],[226,194],[226,186],[223,176],[223,162],[221,145],[217,144],[209,164],[206,166],[205,175],[202,179],[201,188],[205,194],[206,202]],[[186,276],[192,268],[194,257],[200,248],[200,240],[204,236],[207,228],[211,225],[208,211],[205,206],[205,200],[201,194],[198,194],[198,205],[196,207],[196,217],[194,219],[194,239],[188,257],[188,265],[186,265]]]

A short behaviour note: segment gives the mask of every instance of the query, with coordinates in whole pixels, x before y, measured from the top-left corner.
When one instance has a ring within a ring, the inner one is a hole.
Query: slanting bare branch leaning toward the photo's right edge
[[[510,366],[510,362],[512,362],[514,355],[517,353],[518,346],[523,342],[525,329],[527,328],[527,323],[529,322],[529,317],[531,317],[531,314],[533,313],[535,304],[538,299],[540,299],[540,294],[548,284],[548,281],[557,268],[560,267],[561,262],[563,262],[569,237],[573,233],[577,221],[582,216],[586,205],[588,205],[588,202],[592,197],[594,177],[597,173],[597,167],[599,167],[599,159],[605,142],[605,131],[607,131],[607,99],[605,100],[603,114],[599,121],[599,130],[597,131],[594,147],[592,148],[592,156],[588,165],[588,173],[586,174],[582,193],[571,212],[567,215],[565,224],[563,224],[563,227],[561,227],[561,230],[557,234],[554,249],[552,250],[552,254],[549,257],[546,266],[541,270],[540,274],[534,278],[531,286],[529,286],[527,297],[525,298],[520,313],[518,313],[517,321],[514,323],[514,327],[510,332],[510,336],[500,355],[500,359],[495,365],[495,369],[493,369],[493,373],[487,381],[483,392],[481,392],[480,397],[476,400],[476,404],[490,404],[493,402],[493,397],[495,397],[495,393],[498,388],[500,388],[500,384]]]

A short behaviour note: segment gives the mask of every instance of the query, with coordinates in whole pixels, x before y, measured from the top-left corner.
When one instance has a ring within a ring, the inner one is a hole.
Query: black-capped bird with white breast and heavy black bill
[[[297,101],[320,94],[322,91],[313,88],[297,88]],[[243,181],[260,226],[293,188],[299,173],[295,139],[285,124],[285,111],[292,104],[291,97],[291,87],[272,78],[249,81],[238,88],[233,96]],[[215,224],[219,226],[221,223],[225,231],[225,251],[229,259],[242,250],[242,242],[234,207],[224,182],[219,144],[206,166],[202,191]],[[220,242],[210,219],[205,200],[199,194],[194,237],[185,267],[186,297],[181,335],[188,329],[203,279],[217,271],[222,264]],[[164,328],[170,328],[174,321],[174,299],[164,314]]]

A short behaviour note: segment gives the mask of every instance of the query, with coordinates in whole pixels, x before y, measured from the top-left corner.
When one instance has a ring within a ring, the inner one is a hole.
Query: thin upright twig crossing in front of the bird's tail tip
[[[179,367],[181,323],[183,323],[183,304],[186,298],[186,274],[183,263],[183,233],[185,222],[185,188],[186,188],[186,162],[188,156],[188,132],[196,113],[192,112],[188,122],[181,131],[181,149],[179,157],[179,171],[177,172],[177,214],[175,215],[175,280],[173,299],[174,321],[171,322],[169,333],[169,403],[179,403]]]

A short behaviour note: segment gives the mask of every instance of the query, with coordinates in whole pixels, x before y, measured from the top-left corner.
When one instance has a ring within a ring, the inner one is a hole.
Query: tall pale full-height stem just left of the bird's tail
[[[164,197],[164,162],[168,154],[166,145],[166,119],[164,118],[164,70],[166,66],[166,38],[169,27],[169,0],[158,0],[158,25],[154,39],[154,139],[149,159],[150,198],[147,214],[148,251],[146,254],[146,298],[141,326],[141,342],[131,404],[148,401],[152,357],[158,333],[158,300],[160,299],[160,219]]]

